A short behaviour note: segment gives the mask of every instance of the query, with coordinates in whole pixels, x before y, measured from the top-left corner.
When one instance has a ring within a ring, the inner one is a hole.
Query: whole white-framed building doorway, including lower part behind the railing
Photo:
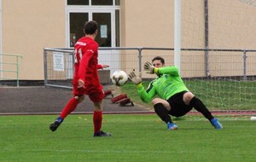
[[[96,42],[99,47],[119,47],[119,1],[94,1],[89,0],[84,4],[73,4],[74,1],[67,0],[67,48],[73,48],[79,38],[84,37],[84,23],[88,20],[96,20],[99,32]],[[81,1],[80,1],[81,2]],[[83,1],[84,2],[84,1]],[[98,3],[97,3],[98,2]],[[116,50],[99,50],[99,63],[109,64],[109,60],[113,61],[109,65],[111,73],[115,69],[119,69],[120,52]],[[70,58],[72,59],[72,58]],[[69,65],[73,66],[73,65]],[[72,76],[71,76],[72,75]],[[73,72],[68,72],[67,78],[72,78]]]

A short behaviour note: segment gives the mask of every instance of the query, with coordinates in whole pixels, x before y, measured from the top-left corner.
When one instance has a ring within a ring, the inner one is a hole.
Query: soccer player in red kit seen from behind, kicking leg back
[[[84,95],[89,95],[94,105],[93,124],[94,136],[111,136],[110,133],[102,131],[102,99],[104,92],[100,84],[97,69],[108,67],[98,65],[98,44],[95,41],[98,32],[96,21],[90,20],[84,25],[85,36],[75,44],[74,50],[74,77],[73,77],[73,98],[67,102],[66,107],[49,129],[55,131],[69,113],[84,100]]]

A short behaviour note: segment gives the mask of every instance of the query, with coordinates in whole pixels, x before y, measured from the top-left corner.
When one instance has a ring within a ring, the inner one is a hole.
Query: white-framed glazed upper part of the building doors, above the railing
[[[84,37],[84,22],[88,20],[98,23],[96,42],[100,47],[119,47],[119,0],[87,0],[89,5],[82,5],[84,2],[67,0],[67,4],[71,4],[67,6],[67,47],[74,47],[79,38]]]

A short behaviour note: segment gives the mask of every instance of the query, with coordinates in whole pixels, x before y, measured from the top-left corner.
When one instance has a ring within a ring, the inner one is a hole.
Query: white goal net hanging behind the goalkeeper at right
[[[181,74],[212,111],[256,111],[256,1],[182,3]]]

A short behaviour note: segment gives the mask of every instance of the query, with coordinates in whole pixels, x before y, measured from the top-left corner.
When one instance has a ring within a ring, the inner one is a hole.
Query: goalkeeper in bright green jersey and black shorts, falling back
[[[166,122],[167,130],[177,130],[177,124],[172,122],[171,116],[181,117],[189,113],[193,107],[202,113],[215,129],[223,129],[222,124],[212,116],[204,103],[188,90],[177,67],[164,66],[165,60],[160,56],[154,57],[152,64],[150,62],[144,64],[144,70],[147,73],[157,75],[150,82],[147,90],[143,87],[142,78],[135,72],[131,72],[129,78],[134,84],[137,84],[137,92],[142,101],[152,101],[154,112]],[[155,95],[158,95],[159,98],[154,98]]]

